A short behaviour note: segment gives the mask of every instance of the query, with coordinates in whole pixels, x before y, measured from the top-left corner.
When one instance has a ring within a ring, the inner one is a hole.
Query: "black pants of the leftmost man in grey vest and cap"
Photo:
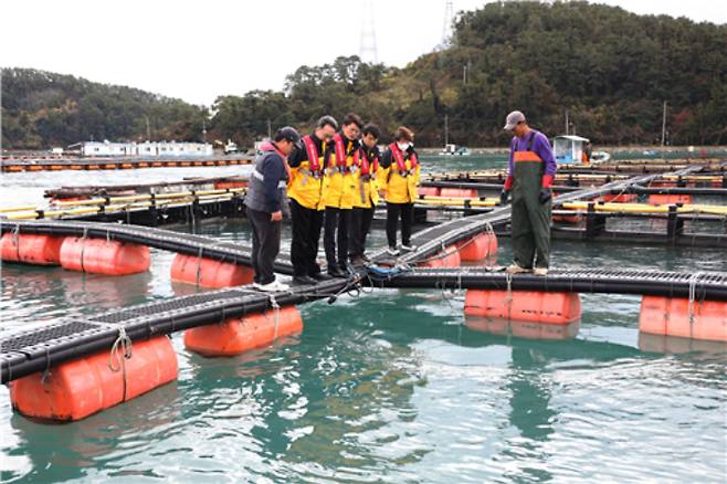
[[[252,269],[257,284],[275,281],[273,265],[281,251],[282,222],[273,222],[270,213],[247,209],[247,220],[252,227]]]

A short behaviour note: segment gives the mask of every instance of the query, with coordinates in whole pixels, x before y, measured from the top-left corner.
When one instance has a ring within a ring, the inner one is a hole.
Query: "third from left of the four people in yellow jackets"
[[[361,147],[354,157],[355,172],[354,209],[351,211],[351,236],[349,257],[354,266],[364,265],[370,260],[366,251],[366,235],[371,229],[373,211],[379,202],[379,148],[376,146],[381,130],[373,124],[364,126]]]

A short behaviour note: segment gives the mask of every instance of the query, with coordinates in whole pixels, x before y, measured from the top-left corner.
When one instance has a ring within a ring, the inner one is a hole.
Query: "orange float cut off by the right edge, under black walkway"
[[[727,303],[644,296],[639,329],[653,335],[727,341]]]

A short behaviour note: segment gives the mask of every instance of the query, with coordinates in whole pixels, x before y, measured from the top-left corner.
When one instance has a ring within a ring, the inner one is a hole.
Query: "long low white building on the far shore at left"
[[[82,144],[83,156],[212,156],[209,143],[144,141],[110,143],[85,141]]]

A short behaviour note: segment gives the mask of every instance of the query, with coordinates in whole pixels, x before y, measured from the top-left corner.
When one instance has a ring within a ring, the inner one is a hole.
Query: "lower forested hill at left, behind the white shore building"
[[[4,149],[140,140],[147,134],[152,139],[196,140],[208,115],[204,107],[130,87],[29,69],[2,70]]]

